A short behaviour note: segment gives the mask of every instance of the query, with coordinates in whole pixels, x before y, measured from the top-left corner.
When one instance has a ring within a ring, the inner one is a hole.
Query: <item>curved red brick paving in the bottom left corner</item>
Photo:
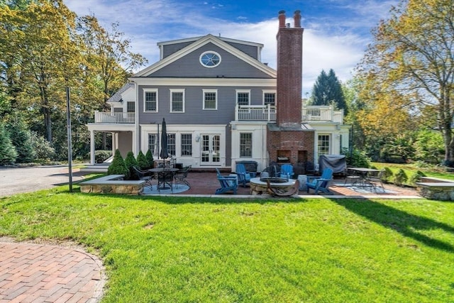
[[[99,302],[101,261],[80,248],[0,238],[0,302]]]

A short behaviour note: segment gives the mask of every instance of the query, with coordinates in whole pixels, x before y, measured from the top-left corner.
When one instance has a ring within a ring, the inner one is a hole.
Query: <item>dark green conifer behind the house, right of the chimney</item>
[[[339,82],[333,69],[329,70],[328,75],[324,70],[321,70],[312,89],[311,104],[330,105],[331,103],[335,104],[338,109],[343,109],[347,114],[341,82]]]

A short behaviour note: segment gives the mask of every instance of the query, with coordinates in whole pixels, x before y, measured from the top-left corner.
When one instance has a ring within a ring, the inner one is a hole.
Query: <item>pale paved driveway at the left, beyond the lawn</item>
[[[79,169],[72,169],[72,182],[83,179]],[[50,189],[70,182],[67,165],[0,167],[0,197]]]

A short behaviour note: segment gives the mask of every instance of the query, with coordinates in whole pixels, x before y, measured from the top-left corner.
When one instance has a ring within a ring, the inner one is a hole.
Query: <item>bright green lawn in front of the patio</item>
[[[452,202],[75,191],[0,199],[0,235],[97,253],[103,302],[453,302]]]

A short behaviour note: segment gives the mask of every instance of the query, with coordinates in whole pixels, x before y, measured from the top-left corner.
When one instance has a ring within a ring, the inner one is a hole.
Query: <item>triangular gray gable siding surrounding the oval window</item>
[[[221,55],[221,64],[217,67],[207,68],[200,64],[200,55],[209,50]],[[162,67],[162,69],[157,70],[148,77],[272,78],[270,75],[265,74],[265,72],[226,52],[226,50],[218,48],[213,43],[208,43],[194,50],[192,53],[172,62],[170,65]]]

